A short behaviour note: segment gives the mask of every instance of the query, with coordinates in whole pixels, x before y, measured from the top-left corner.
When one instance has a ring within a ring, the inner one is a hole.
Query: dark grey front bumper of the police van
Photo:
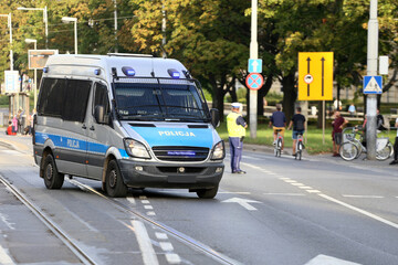
[[[224,169],[222,161],[177,165],[121,159],[118,165],[125,184],[132,188],[211,189]]]

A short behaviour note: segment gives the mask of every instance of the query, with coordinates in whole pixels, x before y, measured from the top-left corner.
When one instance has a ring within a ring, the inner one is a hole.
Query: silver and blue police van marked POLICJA
[[[53,55],[43,68],[33,152],[48,189],[64,176],[214,198],[224,144],[200,84],[178,61],[150,55]]]

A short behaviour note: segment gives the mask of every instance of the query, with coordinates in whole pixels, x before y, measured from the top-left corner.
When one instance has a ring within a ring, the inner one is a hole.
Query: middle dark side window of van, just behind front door
[[[91,86],[91,81],[67,81],[62,119],[80,123],[84,121]]]

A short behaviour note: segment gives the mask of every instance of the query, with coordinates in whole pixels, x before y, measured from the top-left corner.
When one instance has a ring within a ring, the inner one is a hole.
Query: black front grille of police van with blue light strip
[[[202,147],[153,147],[159,160],[165,161],[203,161],[209,155],[209,148]]]

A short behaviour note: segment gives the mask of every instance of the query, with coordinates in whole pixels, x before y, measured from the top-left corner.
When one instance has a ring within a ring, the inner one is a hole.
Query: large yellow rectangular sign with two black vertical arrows
[[[333,52],[298,53],[298,100],[333,100]]]

